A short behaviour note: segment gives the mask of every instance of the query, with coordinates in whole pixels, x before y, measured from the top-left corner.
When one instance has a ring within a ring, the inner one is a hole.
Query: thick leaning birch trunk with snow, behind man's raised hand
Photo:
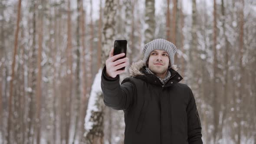
[[[106,0],[105,8],[104,8],[104,29],[102,35],[102,65],[104,65],[105,60],[108,57],[108,53],[113,46],[113,42],[115,40],[115,14],[116,10],[114,9],[118,5],[118,0]],[[108,32],[108,33],[107,33]],[[101,71],[98,71],[97,76],[100,76]],[[100,80],[95,78],[95,80]],[[98,83],[97,81],[95,81]],[[87,127],[85,125],[85,137],[87,142],[92,144],[102,144],[103,143],[103,110],[104,104],[102,103],[102,93],[100,92],[91,92],[91,97],[89,99],[89,106],[87,111],[89,113],[86,114],[85,124],[87,122],[92,123],[92,127]],[[94,97],[92,97],[94,96]],[[100,102],[98,102],[100,101]],[[98,111],[92,109],[93,107],[97,107]],[[90,114],[90,115],[89,115]]]

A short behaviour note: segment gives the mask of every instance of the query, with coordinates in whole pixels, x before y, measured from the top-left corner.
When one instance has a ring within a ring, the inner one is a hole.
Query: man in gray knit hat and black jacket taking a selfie
[[[129,69],[131,77],[119,84],[118,70],[128,58],[116,59],[113,49],[102,71],[105,105],[125,112],[125,144],[203,144],[200,118],[191,89],[178,83],[176,47],[154,39],[143,48],[144,59]]]

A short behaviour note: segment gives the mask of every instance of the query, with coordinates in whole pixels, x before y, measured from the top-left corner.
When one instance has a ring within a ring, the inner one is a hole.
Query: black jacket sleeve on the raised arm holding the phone
[[[106,75],[106,66],[102,70],[101,88],[104,104],[115,110],[127,110],[135,95],[135,86],[131,82],[120,85],[119,75],[115,78]]]

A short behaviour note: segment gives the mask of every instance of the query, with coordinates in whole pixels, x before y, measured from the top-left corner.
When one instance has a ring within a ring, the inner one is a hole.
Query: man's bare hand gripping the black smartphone
[[[113,56],[114,52],[114,48],[111,49],[111,51],[109,52],[109,57],[106,60],[106,75],[108,77],[112,77],[115,78],[116,75],[119,75],[123,72],[125,72],[124,70],[118,70],[121,69],[122,67],[128,66],[128,58],[123,58],[123,59],[118,59],[121,58],[122,56],[125,56],[125,53],[120,53],[118,55]],[[117,61],[115,61],[116,59],[118,59]]]

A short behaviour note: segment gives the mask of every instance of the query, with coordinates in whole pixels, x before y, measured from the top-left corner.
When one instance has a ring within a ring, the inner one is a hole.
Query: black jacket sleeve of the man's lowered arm
[[[196,101],[192,90],[189,88],[190,100],[187,105],[187,135],[189,144],[203,144],[202,127],[197,111]]]

